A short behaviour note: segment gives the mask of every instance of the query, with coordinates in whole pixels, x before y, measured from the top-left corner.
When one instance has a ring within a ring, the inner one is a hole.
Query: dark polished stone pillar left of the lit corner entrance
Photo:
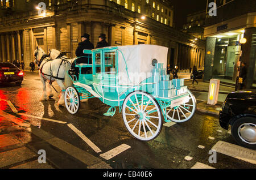
[[[204,80],[212,79],[214,51],[216,45],[216,37],[207,37],[206,53],[204,60]]]

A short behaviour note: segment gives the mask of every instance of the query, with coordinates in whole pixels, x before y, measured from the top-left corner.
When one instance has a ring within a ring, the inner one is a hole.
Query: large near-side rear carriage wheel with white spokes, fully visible
[[[139,140],[155,139],[162,129],[160,106],[147,92],[134,91],[126,96],[122,115],[127,130]]]

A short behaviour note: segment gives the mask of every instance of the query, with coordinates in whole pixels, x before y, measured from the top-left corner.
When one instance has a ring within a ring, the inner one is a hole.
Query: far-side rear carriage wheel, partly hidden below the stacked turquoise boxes
[[[196,112],[196,98],[187,88],[189,101],[185,104],[167,109],[167,118],[174,122],[185,122],[193,117]]]

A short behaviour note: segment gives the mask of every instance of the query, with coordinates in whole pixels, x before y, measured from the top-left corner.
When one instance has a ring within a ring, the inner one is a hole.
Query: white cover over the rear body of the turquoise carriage
[[[152,76],[152,60],[167,66],[168,48],[158,45],[127,45],[118,47],[118,80],[121,85],[135,85]],[[123,59],[125,58],[125,61]],[[127,76],[127,71],[129,77]]]

